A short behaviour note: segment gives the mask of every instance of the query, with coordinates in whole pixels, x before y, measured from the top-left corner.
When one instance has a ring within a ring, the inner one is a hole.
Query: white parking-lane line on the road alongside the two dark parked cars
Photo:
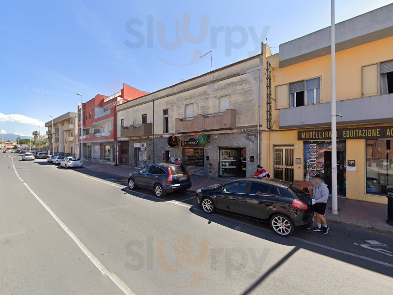
[[[87,176],[85,176],[85,177],[87,177]],[[87,178],[90,178],[90,179],[96,180],[96,181],[100,181],[100,182],[105,183],[105,184],[111,184],[110,182],[105,182],[105,181],[102,181],[100,179],[96,179],[96,178],[93,178],[93,177],[87,177]],[[133,190],[130,190],[127,187],[124,187],[124,189],[127,190],[127,191],[130,191],[130,192],[134,192]],[[140,195],[144,195],[144,196],[149,197],[149,198],[154,198],[154,199],[163,201],[163,199],[160,199],[160,198],[157,198],[157,197],[154,197],[154,196],[150,196],[150,195],[147,195],[147,194],[144,194],[144,193],[140,193],[140,192],[135,192],[135,193],[136,194],[140,194]],[[187,208],[191,208],[192,207],[192,205],[179,203],[179,201],[173,201],[173,200],[165,202],[165,203],[172,203],[174,205],[187,207]],[[192,208],[192,209],[203,212],[203,210],[201,210],[199,208]],[[226,216],[220,216],[220,217],[221,218],[225,218],[225,219],[230,220],[230,221],[234,221],[230,217],[226,217]],[[258,229],[258,230],[262,230],[262,231],[265,231],[265,232],[271,232],[270,230],[263,229],[263,228],[257,227],[255,225],[252,225],[252,224],[249,224],[249,223],[246,223],[246,222],[243,222],[243,221],[236,220],[236,222],[240,223],[240,224],[243,224],[243,225],[246,225],[246,226],[253,227],[253,228]],[[329,247],[329,246],[325,246],[325,245],[322,245],[322,244],[314,243],[314,242],[311,242],[309,240],[302,239],[302,238],[299,238],[299,237],[289,236],[288,238],[295,239],[295,240],[298,240],[298,241],[301,241],[301,242],[304,242],[304,243],[307,243],[307,244],[310,244],[310,245],[313,245],[313,246],[316,246],[316,247],[324,248],[324,249],[331,250],[331,251],[334,251],[334,252],[337,252],[337,253],[341,253],[341,254],[344,254],[344,255],[348,255],[348,256],[356,257],[356,258],[363,259],[363,260],[366,260],[366,261],[369,261],[369,262],[373,262],[373,263],[376,263],[376,264],[380,264],[380,265],[383,265],[383,266],[393,267],[393,264],[390,264],[390,263],[386,263],[386,262],[383,262],[383,261],[375,260],[375,259],[363,256],[363,255],[358,255],[358,254],[355,254],[355,253],[343,251],[343,250],[336,249],[336,248]]]

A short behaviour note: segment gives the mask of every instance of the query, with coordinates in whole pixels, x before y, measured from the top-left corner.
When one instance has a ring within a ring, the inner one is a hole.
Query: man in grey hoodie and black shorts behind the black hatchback
[[[312,191],[312,207],[316,215],[317,226],[312,230],[314,232],[322,232],[323,234],[329,233],[329,227],[325,219],[326,204],[329,198],[329,189],[326,183],[322,182],[320,176],[313,178],[313,183],[309,187],[309,191]]]

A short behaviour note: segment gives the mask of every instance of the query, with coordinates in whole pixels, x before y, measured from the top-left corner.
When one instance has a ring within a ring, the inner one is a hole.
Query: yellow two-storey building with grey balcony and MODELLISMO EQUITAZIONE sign
[[[338,195],[387,203],[393,187],[393,4],[336,24]],[[264,51],[262,164],[330,186],[330,27]],[[271,93],[271,96],[269,94]]]

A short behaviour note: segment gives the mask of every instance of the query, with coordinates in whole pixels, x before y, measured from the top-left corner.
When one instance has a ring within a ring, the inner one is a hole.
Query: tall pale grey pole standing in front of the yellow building
[[[337,112],[336,112],[336,24],[335,0],[331,0],[331,96],[332,96],[332,213],[337,215]]]

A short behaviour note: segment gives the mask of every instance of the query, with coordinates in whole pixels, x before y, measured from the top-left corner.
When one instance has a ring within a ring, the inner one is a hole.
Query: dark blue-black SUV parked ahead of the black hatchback
[[[187,170],[176,164],[154,164],[142,167],[128,177],[128,187],[152,189],[162,198],[166,193],[182,191],[191,187],[191,177]]]

